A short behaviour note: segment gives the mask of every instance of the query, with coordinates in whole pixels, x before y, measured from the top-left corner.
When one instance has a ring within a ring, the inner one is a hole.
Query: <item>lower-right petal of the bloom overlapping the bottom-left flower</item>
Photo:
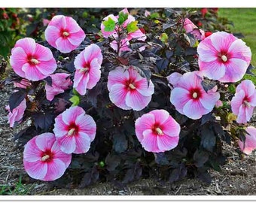
[[[75,137],[76,148],[74,153],[87,153],[90,149],[90,137],[84,133],[80,132],[78,136]]]

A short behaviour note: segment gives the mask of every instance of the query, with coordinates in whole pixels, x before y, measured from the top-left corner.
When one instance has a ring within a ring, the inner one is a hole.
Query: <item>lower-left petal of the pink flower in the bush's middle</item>
[[[116,83],[113,86],[111,86],[109,98],[111,102],[114,103],[114,105],[116,105],[119,108],[122,108],[123,110],[131,109],[130,106],[126,105],[126,95],[127,89],[126,86],[124,86],[123,84]]]

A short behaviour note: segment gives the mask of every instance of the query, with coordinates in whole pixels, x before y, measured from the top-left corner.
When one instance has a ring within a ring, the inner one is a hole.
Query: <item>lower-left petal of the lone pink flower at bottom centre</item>
[[[161,150],[157,146],[157,136],[154,135],[151,129],[143,132],[143,139],[141,141],[142,147],[148,152],[159,153]]]

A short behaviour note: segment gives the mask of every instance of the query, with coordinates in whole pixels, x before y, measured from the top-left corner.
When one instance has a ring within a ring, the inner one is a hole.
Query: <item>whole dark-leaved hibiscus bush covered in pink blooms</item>
[[[181,9],[133,14],[104,17],[99,38],[57,15],[47,41],[17,41],[7,109],[11,127],[28,125],[15,138],[26,144],[29,176],[80,187],[142,176],[209,183],[209,169],[225,162],[224,142],[254,149],[245,123],[255,87],[240,83],[250,69],[245,43],[227,32],[206,36]]]

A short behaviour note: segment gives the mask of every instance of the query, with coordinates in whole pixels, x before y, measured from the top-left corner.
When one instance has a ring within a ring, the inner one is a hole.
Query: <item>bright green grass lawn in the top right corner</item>
[[[256,8],[220,8],[219,17],[226,17],[233,22],[232,32],[241,32],[248,47],[251,47],[251,64],[256,66]],[[256,68],[253,70],[256,74]],[[245,75],[245,79],[250,79],[256,84],[256,76]]]

